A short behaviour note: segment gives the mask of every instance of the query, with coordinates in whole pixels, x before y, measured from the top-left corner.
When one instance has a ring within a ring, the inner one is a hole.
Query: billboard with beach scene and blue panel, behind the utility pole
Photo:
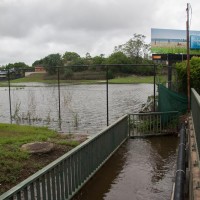
[[[200,54],[200,31],[190,31],[190,54]],[[186,53],[186,30],[151,29],[152,53]]]

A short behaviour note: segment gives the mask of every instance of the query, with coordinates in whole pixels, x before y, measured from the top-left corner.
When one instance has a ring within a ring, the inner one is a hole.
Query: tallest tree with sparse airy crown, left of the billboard
[[[150,45],[145,43],[146,36],[134,34],[133,37],[125,44],[115,47],[115,52],[123,52],[135,63],[142,63],[143,58],[147,57],[150,51]]]

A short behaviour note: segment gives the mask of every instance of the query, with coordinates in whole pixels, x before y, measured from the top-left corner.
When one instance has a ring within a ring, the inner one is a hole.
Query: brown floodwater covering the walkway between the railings
[[[73,200],[167,200],[178,138],[129,139]]]

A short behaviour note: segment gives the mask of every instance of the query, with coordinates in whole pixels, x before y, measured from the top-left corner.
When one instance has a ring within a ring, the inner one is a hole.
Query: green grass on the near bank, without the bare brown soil
[[[0,194],[11,186],[15,185],[19,179],[20,171],[27,165],[30,154],[21,151],[22,144],[35,141],[50,141],[59,145],[75,147],[79,143],[66,141],[66,136],[57,134],[46,127],[20,126],[16,124],[0,124]],[[40,164],[31,164],[31,168]]]

